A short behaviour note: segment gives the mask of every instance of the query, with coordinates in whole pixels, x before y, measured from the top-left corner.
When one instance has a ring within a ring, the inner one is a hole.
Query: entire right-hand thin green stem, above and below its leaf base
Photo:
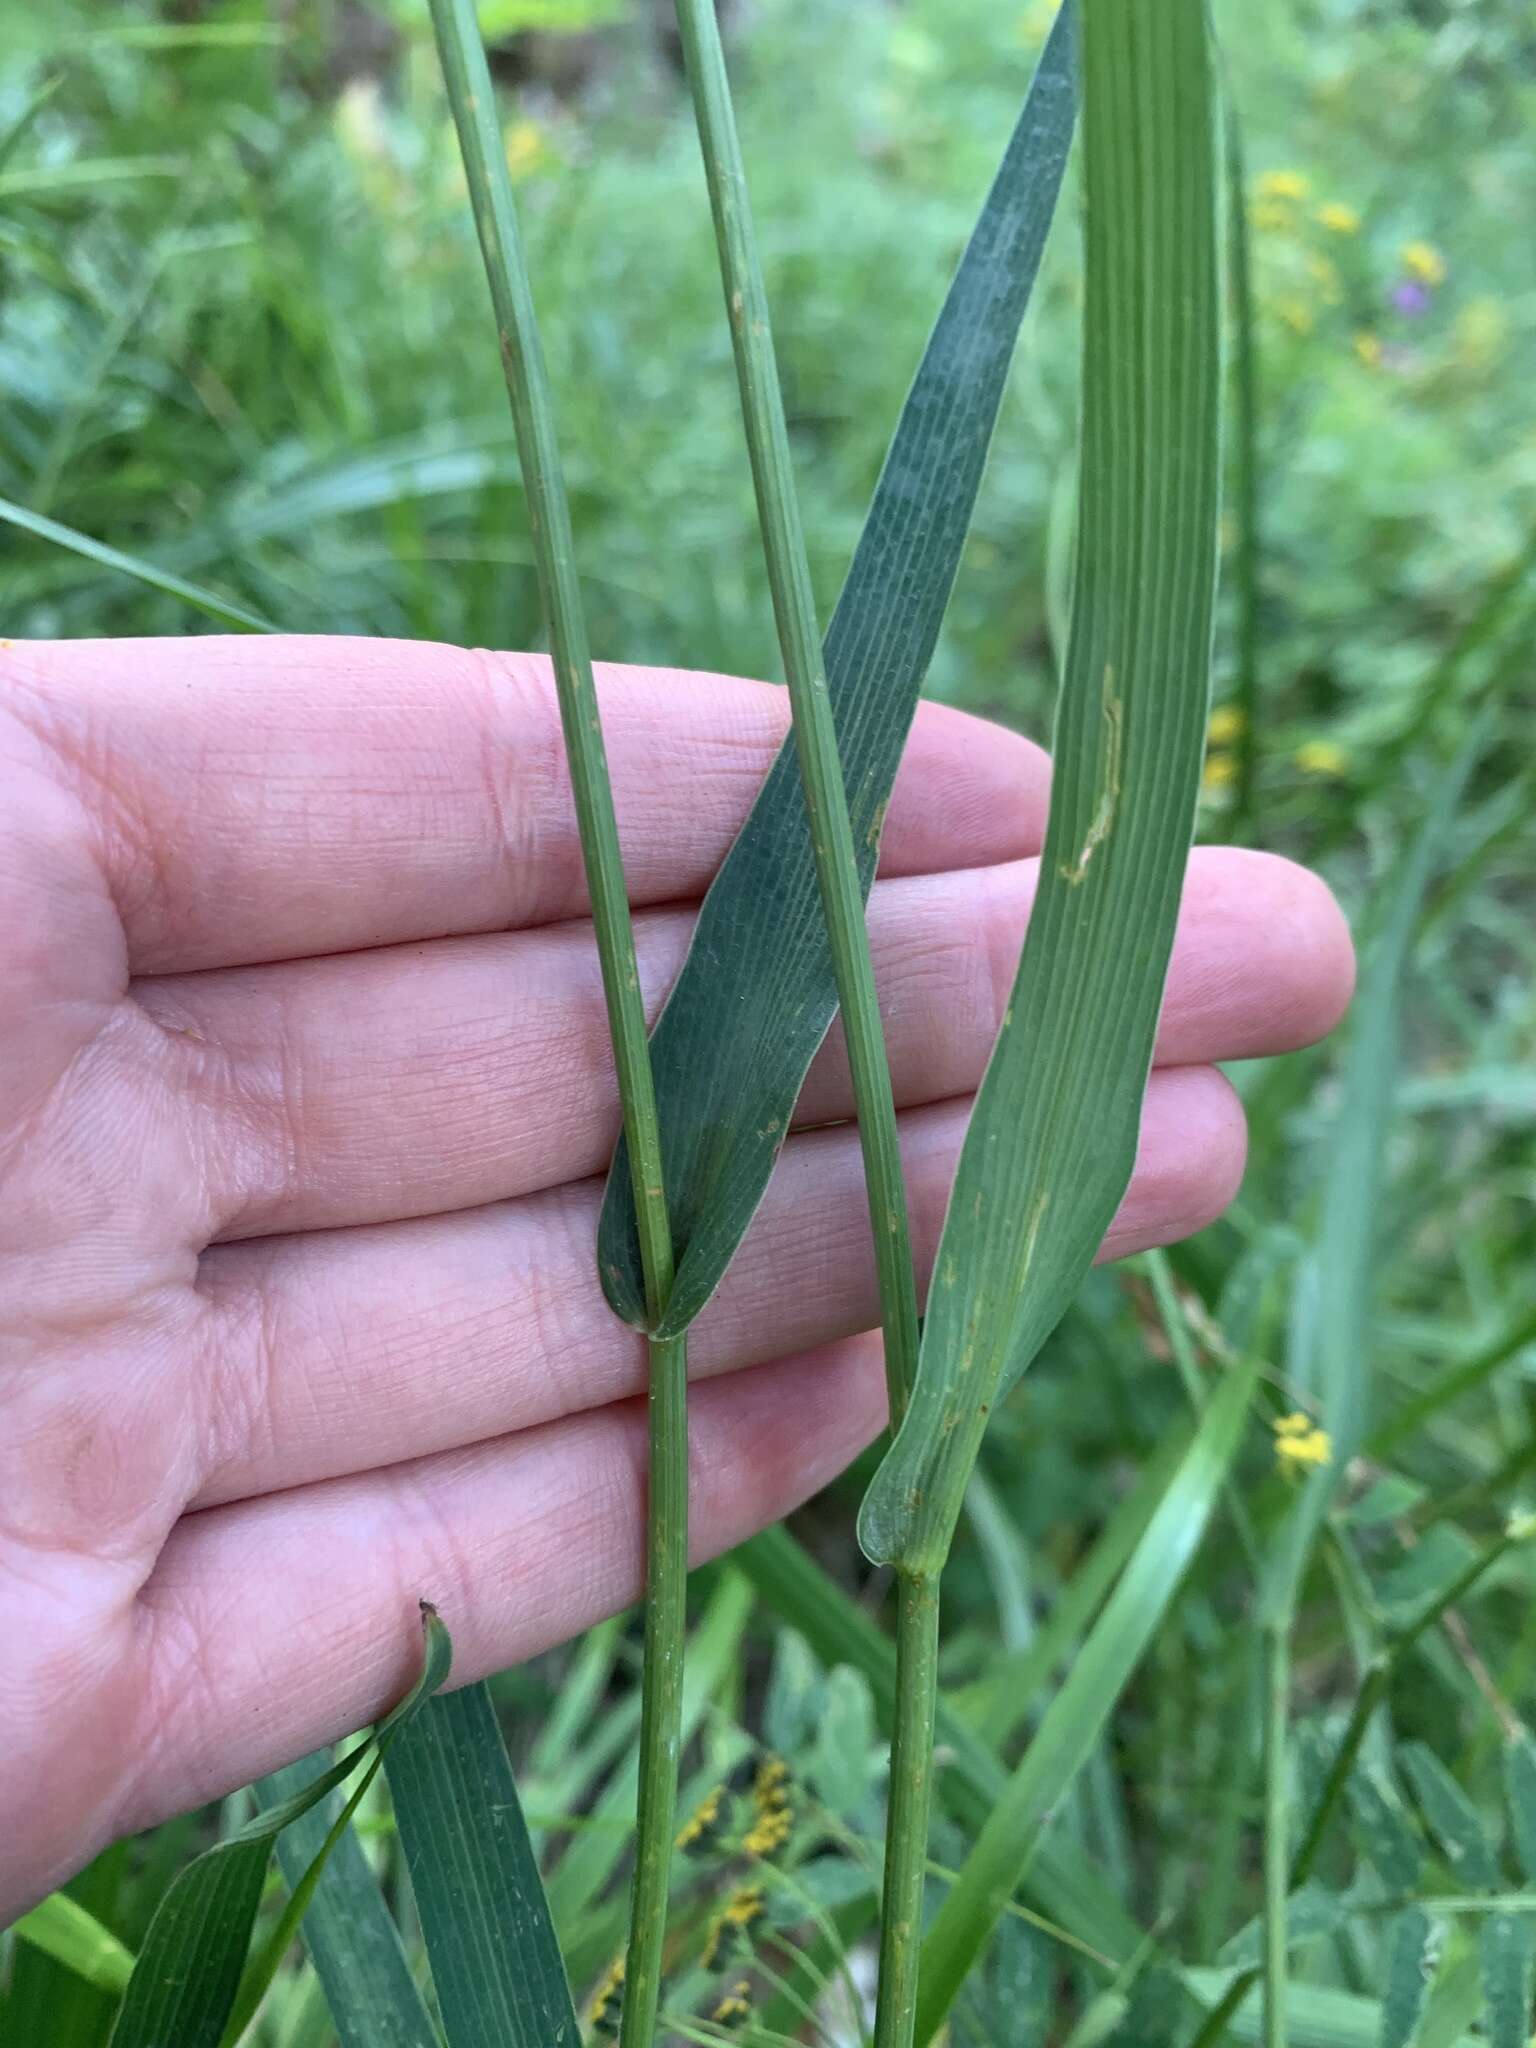
[[[784,401],[768,322],[768,293],[752,229],[745,166],[735,133],[731,86],[713,0],[678,0],[678,29],[709,180],[768,586],[788,684],[821,913],[827,922],[848,1044],[874,1235],[891,1425],[899,1427],[918,1376],[918,1282],[911,1264],[907,1188],[901,1171],[891,1067],[864,926],[864,895],[821,659],[811,567],[795,496]],[[911,2040],[936,1706],[938,1587],[903,1577],[897,1608],[897,1718],[891,1753],[877,2048],[903,2048]]]

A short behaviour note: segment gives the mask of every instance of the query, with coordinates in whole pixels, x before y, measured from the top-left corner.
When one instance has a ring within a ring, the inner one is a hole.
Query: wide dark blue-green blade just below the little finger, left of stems
[[[449,2048],[575,2048],[565,1964],[483,1686],[434,1700],[385,1761]]]

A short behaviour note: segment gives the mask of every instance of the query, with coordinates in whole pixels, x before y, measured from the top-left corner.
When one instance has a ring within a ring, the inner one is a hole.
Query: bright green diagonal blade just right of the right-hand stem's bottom
[[[1053,1808],[1087,1761],[1200,1544],[1227,1481],[1257,1364],[1229,1372],[1206,1407],[1147,1534],[993,1804],[924,1942],[918,2040],[930,2042],[997,1925]]]

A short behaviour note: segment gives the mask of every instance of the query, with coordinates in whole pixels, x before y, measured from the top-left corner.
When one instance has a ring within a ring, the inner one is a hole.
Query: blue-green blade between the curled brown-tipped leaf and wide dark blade
[[[264,1806],[293,1798],[324,1767],[324,1751],[291,1763],[264,1778],[256,1798]],[[276,1860],[291,1888],[303,1882],[322,1851],[338,1804],[332,1794],[276,1837]],[[350,1827],[332,1847],[299,1931],[326,1991],[340,2048],[438,2048],[438,2030],[412,1978],[399,1929]]]

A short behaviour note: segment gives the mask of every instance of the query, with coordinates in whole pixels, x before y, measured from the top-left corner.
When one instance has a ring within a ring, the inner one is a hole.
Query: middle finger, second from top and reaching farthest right
[[[903,1108],[981,1079],[1038,862],[901,877],[870,897],[870,946]],[[692,911],[635,920],[653,1018]],[[1200,848],[1157,1038],[1161,1065],[1278,1053],[1348,995],[1333,899],[1270,854]],[[180,1096],[211,1159],[219,1239],[389,1223],[598,1174],[618,1102],[586,922],[135,985],[170,1026]],[[848,1116],[834,1030],[795,1112]]]

